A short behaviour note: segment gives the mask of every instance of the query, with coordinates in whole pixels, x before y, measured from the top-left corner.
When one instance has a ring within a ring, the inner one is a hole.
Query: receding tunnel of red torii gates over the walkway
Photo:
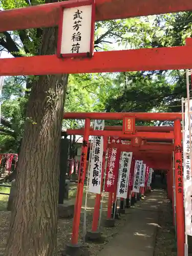
[[[119,147],[121,151],[133,152],[135,158],[143,160],[152,168],[167,170],[167,193],[174,207],[174,168],[175,161],[175,189],[176,189],[176,226],[178,255],[184,256],[184,211],[183,211],[183,176],[182,176],[182,136],[181,113],[65,113],[63,119],[84,119],[84,129],[67,129],[67,135],[83,135],[82,153],[79,179],[73,221],[72,244],[78,243],[80,210],[82,204],[83,184],[86,178],[86,160],[88,153],[89,136],[103,136],[104,151],[106,148]],[[123,120],[123,126],[105,126],[103,131],[93,130],[91,120]],[[126,130],[125,119],[133,121],[131,131]],[[143,121],[173,121],[174,126],[135,126],[136,120]],[[128,131],[128,132],[127,132]],[[118,137],[123,144],[108,144],[108,138]],[[174,153],[174,155],[173,155]],[[105,154],[103,154],[105,157]],[[174,158],[173,158],[174,156]],[[102,170],[103,172],[103,170]],[[109,197],[111,197],[109,195]],[[93,226],[98,226],[101,195],[96,195]],[[109,199],[110,200],[110,199]],[[173,222],[174,215],[173,215]]]

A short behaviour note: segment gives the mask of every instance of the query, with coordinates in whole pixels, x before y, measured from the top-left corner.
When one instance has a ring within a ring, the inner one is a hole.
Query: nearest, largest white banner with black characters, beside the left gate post
[[[94,130],[104,130],[104,120],[94,121]],[[93,137],[92,158],[90,167],[89,192],[101,194],[101,172],[103,157],[103,137]]]

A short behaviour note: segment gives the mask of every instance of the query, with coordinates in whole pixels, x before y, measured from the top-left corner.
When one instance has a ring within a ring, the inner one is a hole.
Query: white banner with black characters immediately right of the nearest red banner
[[[129,187],[130,169],[132,163],[132,152],[122,152],[119,169],[119,180],[117,188],[117,197],[127,198],[127,190]]]

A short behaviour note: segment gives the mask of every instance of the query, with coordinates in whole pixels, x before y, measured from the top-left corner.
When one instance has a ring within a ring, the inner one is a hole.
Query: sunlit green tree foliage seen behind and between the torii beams
[[[42,0],[2,0],[4,10],[44,4]],[[170,47],[185,44],[191,36],[192,13],[153,15],[97,22],[95,51]],[[0,51],[14,57],[39,53],[42,29],[3,32]],[[129,60],[127,60],[129,61]],[[139,60],[138,60],[139,61]],[[26,102],[35,76],[6,77],[2,96],[1,152],[17,151],[23,134]],[[186,96],[184,71],[123,72],[70,75],[66,112],[178,112]],[[109,122],[119,123],[119,122]],[[63,122],[63,129],[82,126]]]

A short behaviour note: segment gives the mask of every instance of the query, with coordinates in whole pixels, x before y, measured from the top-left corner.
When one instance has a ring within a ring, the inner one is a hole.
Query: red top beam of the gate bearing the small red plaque
[[[89,113],[89,112],[66,112],[63,114],[63,119],[104,119],[104,120],[122,120],[123,115],[130,113],[125,112],[102,112],[102,113]],[[136,120],[159,120],[159,121],[174,121],[175,119],[182,119],[181,113],[132,113],[135,115]]]

